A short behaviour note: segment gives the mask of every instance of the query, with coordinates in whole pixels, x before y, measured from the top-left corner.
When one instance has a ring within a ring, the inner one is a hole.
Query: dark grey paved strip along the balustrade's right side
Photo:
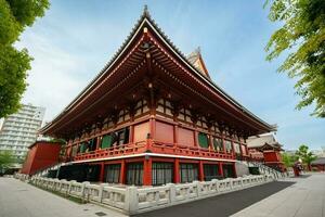
[[[221,194],[200,201],[170,206],[133,217],[222,217],[231,216],[296,182],[273,181],[258,187]]]

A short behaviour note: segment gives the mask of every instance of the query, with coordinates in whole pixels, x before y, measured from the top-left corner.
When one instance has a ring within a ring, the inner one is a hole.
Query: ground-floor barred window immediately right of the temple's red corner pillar
[[[153,186],[160,186],[171,183],[173,179],[173,165],[172,163],[153,163]]]

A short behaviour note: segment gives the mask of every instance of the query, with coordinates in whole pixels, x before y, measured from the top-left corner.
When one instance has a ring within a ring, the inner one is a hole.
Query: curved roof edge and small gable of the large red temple
[[[208,71],[206,69],[204,62],[202,60],[200,53],[198,53],[198,56],[192,56],[186,58],[179,49],[169,40],[169,38],[164,34],[164,31],[157,26],[154,20],[152,20],[147,8],[144,8],[144,11],[138,21],[138,23],[134,25],[133,29],[131,30],[130,35],[127,37],[122,46],[119,48],[119,50],[116,52],[116,54],[113,56],[113,59],[105,65],[105,67],[99,73],[99,75],[91,80],[91,82],[48,125],[46,125],[42,129],[40,129],[40,133],[44,135],[52,135],[53,130],[51,128],[55,125],[57,125],[57,122],[60,122],[62,118],[64,118],[68,113],[70,113],[74,107],[78,106],[78,104],[89,94],[93,89],[96,89],[96,86],[101,85],[103,79],[106,79],[106,77],[112,73],[113,68],[116,67],[119,59],[122,55],[126,55],[126,52],[128,49],[130,49],[131,44],[134,42],[135,37],[139,34],[142,34],[145,28],[150,28],[151,31],[153,31],[161,41],[164,41],[164,46],[166,46],[168,49],[170,49],[173,54],[186,66],[191,69],[192,74],[194,74],[196,77],[202,79],[204,84],[208,85],[209,88],[211,88],[213,91],[216,91],[218,94],[220,94],[224,100],[226,100],[229,103],[237,107],[245,116],[252,119],[255,123],[261,126],[261,133],[268,132],[268,131],[275,131],[276,126],[269,125],[268,123],[263,122],[256,115],[253,115],[251,112],[249,112],[246,107],[244,107],[242,104],[239,104],[237,101],[235,101],[233,98],[231,98],[225,91],[223,91],[220,87],[218,87],[210,78]],[[197,55],[197,53],[196,53]],[[195,61],[197,59],[200,59],[203,68],[199,69],[196,65],[194,65]]]

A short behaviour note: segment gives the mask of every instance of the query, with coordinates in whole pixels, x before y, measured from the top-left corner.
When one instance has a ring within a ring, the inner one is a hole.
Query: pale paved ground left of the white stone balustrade
[[[0,217],[125,217],[93,204],[77,204],[13,178],[0,178]]]

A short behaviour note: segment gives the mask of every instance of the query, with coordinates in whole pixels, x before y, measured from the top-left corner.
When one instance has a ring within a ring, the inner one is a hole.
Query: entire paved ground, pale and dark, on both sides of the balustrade
[[[0,178],[0,217],[126,217],[77,204],[13,178]],[[325,217],[325,174],[286,179],[136,216]]]

